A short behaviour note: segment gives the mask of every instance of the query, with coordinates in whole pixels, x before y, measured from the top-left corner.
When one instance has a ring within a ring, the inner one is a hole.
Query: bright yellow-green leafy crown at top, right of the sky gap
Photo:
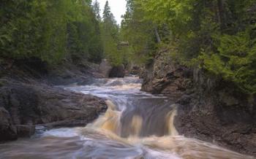
[[[167,23],[172,31],[183,31],[181,26],[192,20],[192,12],[195,10],[195,0],[148,0],[135,1],[140,8],[146,12],[144,18],[152,20],[154,23]]]

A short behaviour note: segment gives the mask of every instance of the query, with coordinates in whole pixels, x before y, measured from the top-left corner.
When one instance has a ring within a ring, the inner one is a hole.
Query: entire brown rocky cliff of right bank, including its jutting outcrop
[[[200,69],[173,63],[162,52],[143,72],[142,90],[176,101],[174,125],[187,137],[256,155],[256,98]]]

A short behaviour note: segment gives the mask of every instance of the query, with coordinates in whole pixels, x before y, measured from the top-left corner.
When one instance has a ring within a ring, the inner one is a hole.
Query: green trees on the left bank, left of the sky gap
[[[83,55],[100,61],[99,23],[90,4],[83,0],[1,1],[1,56],[58,63]]]

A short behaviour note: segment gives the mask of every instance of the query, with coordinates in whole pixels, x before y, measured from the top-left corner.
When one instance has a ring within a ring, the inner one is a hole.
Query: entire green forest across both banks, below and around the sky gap
[[[127,66],[151,63],[167,49],[177,63],[256,93],[255,0],[127,0],[121,26],[108,1],[102,17],[90,0],[2,0],[0,15],[4,58],[108,58]]]

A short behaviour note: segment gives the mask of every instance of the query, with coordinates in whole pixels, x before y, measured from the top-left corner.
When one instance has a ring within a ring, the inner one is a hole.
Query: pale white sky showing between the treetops
[[[99,1],[100,4],[100,9],[101,12],[103,12],[105,3],[107,0],[97,0]],[[127,5],[127,1],[125,0],[108,0],[108,4],[110,5],[111,8],[111,12],[113,13],[113,15],[116,18],[116,22],[118,24],[121,24],[121,15],[124,15],[124,13],[126,12],[126,5]]]

